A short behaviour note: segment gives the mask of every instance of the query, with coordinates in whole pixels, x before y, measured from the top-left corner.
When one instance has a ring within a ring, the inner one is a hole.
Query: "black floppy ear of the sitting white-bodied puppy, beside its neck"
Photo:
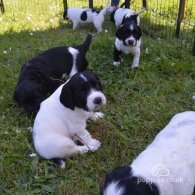
[[[71,110],[74,110],[75,104],[73,100],[73,94],[70,89],[69,82],[66,83],[61,91],[60,94],[60,102],[67,108],[70,108]]]

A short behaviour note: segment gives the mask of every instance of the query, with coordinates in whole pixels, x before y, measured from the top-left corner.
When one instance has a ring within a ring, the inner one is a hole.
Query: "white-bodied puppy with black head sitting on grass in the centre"
[[[41,103],[33,126],[37,152],[64,166],[64,157],[96,151],[101,143],[86,130],[88,119],[103,117],[95,112],[106,104],[101,83],[92,72],[77,73]],[[79,146],[75,141],[82,142]]]

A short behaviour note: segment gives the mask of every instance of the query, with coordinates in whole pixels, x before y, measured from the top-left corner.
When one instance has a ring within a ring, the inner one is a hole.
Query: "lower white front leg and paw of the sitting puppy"
[[[86,129],[77,132],[76,136],[85,146],[87,146],[93,152],[98,150],[101,146],[101,142],[93,139]]]

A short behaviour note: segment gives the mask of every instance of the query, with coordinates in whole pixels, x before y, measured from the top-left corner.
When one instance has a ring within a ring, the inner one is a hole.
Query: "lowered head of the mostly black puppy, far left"
[[[19,105],[24,106],[30,116],[39,111],[40,103],[46,98],[46,92],[41,84],[31,80],[24,80],[17,85],[13,98]]]

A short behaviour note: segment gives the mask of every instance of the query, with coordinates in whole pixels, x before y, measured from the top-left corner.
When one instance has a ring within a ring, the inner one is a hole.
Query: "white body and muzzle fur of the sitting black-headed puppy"
[[[76,153],[82,154],[89,150],[96,151],[101,146],[101,143],[93,139],[86,130],[86,122],[94,113],[79,108],[71,110],[61,104],[59,97],[65,84],[61,85],[41,103],[40,110],[35,118],[33,126],[34,146],[37,152],[46,159],[64,158]],[[91,92],[91,98],[98,95],[98,97],[103,97],[103,101],[106,103],[104,95],[100,92],[96,95],[94,93],[96,92]],[[89,107],[92,109],[93,103],[90,102]],[[80,140],[84,145],[76,145],[75,140]]]

